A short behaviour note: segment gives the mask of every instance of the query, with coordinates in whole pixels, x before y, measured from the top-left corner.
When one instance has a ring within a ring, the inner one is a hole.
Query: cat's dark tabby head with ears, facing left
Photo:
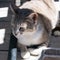
[[[33,32],[37,28],[38,14],[29,9],[18,9],[13,16],[11,25],[15,35]]]

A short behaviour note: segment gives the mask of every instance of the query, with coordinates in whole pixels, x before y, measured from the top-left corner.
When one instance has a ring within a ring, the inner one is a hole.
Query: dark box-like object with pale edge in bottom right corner
[[[60,49],[48,49],[44,52],[42,60],[60,60]]]

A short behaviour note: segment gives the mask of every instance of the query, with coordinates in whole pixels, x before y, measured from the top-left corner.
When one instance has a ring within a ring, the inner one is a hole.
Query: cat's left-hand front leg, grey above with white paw
[[[26,46],[19,44],[19,48],[21,50],[21,58],[27,59],[30,57],[30,52],[28,51]]]

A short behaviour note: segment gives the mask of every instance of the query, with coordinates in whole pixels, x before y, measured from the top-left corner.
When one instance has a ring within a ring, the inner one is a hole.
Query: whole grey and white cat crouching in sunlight
[[[57,14],[56,10],[52,9],[54,6],[48,5],[44,1],[46,0],[29,1],[20,7],[11,6],[14,13],[11,22],[12,33],[18,39],[18,47],[20,47],[22,58],[39,55],[39,52],[32,52],[35,50],[34,47],[39,48],[48,45],[51,30],[57,23],[56,15],[54,15]],[[42,8],[43,6],[45,8]]]

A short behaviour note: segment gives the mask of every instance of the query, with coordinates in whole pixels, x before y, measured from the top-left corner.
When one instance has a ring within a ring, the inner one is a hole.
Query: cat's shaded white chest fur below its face
[[[23,45],[33,45],[33,44],[39,44],[40,39],[42,37],[43,31],[37,31],[35,33],[30,33],[30,34],[23,34],[20,35],[18,34],[18,43],[21,43]]]

